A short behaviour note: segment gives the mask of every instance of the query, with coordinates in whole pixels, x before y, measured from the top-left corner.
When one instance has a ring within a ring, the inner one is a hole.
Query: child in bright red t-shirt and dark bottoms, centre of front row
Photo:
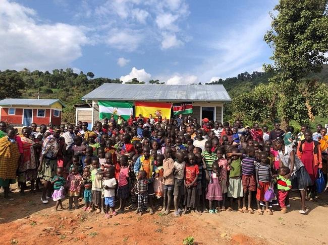
[[[199,175],[198,166],[195,164],[195,154],[188,153],[188,163],[185,167],[185,210],[182,214],[186,214],[188,208],[194,209],[196,213],[199,214],[197,210],[197,178]]]

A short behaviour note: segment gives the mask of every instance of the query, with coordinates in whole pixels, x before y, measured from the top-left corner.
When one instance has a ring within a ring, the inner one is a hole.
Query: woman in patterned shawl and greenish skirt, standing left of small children
[[[46,199],[46,193],[47,191],[51,190],[50,181],[57,171],[57,155],[60,151],[60,134],[61,129],[58,126],[54,126],[53,133],[46,137],[43,141],[40,157],[40,166],[38,168],[38,177],[44,180],[44,186],[41,197],[42,203],[48,203],[48,200]],[[48,196],[50,197],[50,193],[48,194]]]

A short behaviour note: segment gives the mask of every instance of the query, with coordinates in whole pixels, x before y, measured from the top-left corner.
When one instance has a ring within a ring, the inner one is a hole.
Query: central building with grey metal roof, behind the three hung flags
[[[86,113],[91,114],[91,121],[99,120],[98,101],[126,101],[126,102],[192,102],[192,118],[199,122],[208,118],[223,122],[224,102],[231,102],[231,98],[223,85],[153,85],[153,84],[103,84],[89,94],[82,97],[89,106]],[[83,111],[77,108],[76,121],[82,121],[79,115]],[[188,115],[188,114],[186,114]],[[135,108],[133,107],[133,116]],[[143,115],[147,117],[147,115]],[[171,112],[171,118],[173,112]]]

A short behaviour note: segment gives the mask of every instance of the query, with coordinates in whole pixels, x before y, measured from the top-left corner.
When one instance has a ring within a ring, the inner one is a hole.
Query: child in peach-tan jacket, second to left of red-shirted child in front
[[[171,196],[172,196],[172,190],[174,188],[174,161],[171,158],[171,148],[165,147],[164,149],[164,157],[163,160],[163,212],[165,214],[170,213],[170,205],[171,205]],[[166,201],[168,203],[166,204]]]

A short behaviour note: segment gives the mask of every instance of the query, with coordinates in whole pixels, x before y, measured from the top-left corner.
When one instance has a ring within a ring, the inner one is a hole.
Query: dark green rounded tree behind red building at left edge
[[[0,73],[0,99],[19,98],[24,90],[25,83],[16,72]]]

